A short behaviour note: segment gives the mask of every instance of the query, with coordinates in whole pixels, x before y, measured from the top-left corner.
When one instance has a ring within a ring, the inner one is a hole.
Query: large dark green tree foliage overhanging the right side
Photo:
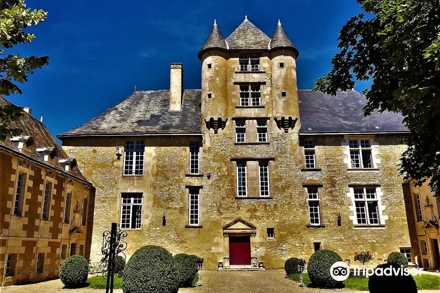
[[[364,114],[391,111],[404,116],[408,145],[400,171],[440,198],[440,1],[356,0],[365,13],[342,27],[332,70],[315,91],[336,95],[354,78],[372,79]]]

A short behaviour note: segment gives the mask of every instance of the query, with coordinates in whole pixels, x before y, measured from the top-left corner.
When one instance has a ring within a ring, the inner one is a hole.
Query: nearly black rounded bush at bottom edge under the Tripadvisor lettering
[[[370,293],[382,293],[382,292],[405,292],[405,293],[417,293],[417,285],[413,276],[410,275],[385,275],[387,269],[393,272],[393,269],[402,269],[399,265],[386,263],[378,265],[376,270],[380,268],[383,273],[382,275],[372,275],[368,279],[368,289]],[[376,271],[375,272],[378,272]]]

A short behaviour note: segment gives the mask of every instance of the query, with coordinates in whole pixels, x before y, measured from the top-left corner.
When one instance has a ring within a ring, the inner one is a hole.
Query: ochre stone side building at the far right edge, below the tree
[[[421,187],[406,182],[403,190],[413,262],[425,270],[437,270],[440,268],[440,205],[428,184],[429,179]]]

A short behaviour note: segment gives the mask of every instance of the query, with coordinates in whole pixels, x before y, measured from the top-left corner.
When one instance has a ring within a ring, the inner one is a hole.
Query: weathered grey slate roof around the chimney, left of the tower
[[[58,138],[85,134],[201,133],[200,90],[184,90],[181,111],[169,111],[170,91],[136,91]]]

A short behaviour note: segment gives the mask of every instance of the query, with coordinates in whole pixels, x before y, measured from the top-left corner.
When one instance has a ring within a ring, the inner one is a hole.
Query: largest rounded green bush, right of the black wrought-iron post
[[[147,245],[135,251],[122,277],[124,293],[176,293],[173,256],[166,249]]]

